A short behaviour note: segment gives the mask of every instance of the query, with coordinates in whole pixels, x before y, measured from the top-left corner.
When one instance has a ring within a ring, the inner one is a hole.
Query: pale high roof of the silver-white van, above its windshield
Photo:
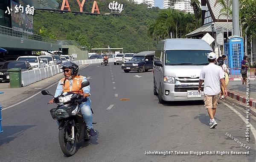
[[[207,42],[199,39],[166,39],[164,50],[209,50],[212,48]]]

